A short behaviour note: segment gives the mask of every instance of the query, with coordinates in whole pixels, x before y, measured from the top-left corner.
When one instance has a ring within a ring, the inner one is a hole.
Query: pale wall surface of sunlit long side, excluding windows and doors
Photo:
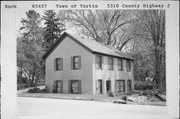
[[[103,55],[102,55],[103,56]],[[102,69],[96,69],[95,67],[95,58],[96,54],[93,54],[93,93],[96,94],[96,80],[102,79],[104,80],[103,85],[103,93],[106,92],[106,80],[111,80],[111,90],[115,91],[115,80],[117,79],[123,79],[125,80],[125,90],[127,91],[127,80],[132,80],[132,89],[134,89],[134,76],[133,76],[133,63],[131,61],[131,71],[127,72],[126,69],[126,60],[123,59],[123,71],[118,71],[118,58],[113,58],[114,60],[114,66],[113,70],[108,69],[108,56],[103,56],[103,68]]]

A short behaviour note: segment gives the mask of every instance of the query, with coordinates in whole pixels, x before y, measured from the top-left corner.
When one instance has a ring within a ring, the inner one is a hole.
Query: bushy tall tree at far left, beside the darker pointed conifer
[[[21,23],[22,36],[17,38],[18,82],[25,78],[28,86],[35,86],[38,80],[44,79],[41,16],[35,10],[29,10]]]

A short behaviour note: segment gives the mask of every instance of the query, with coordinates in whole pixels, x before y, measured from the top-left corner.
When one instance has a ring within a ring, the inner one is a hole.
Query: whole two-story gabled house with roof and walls
[[[134,89],[133,59],[118,50],[63,33],[43,56],[45,85],[58,93],[126,93]]]

